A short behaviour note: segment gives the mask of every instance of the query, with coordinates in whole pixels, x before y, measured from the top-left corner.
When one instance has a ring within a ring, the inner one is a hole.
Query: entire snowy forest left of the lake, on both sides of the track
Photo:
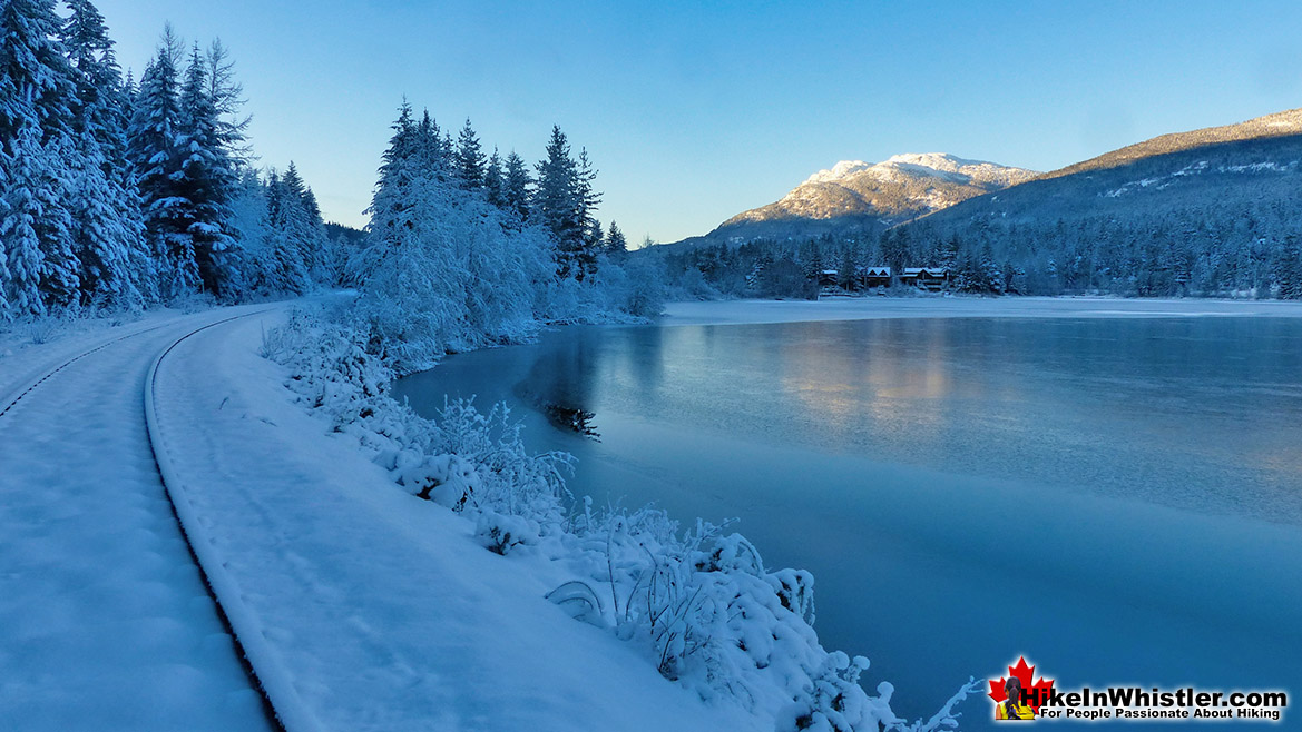
[[[378,337],[437,351],[658,309],[559,127],[530,166],[404,101],[363,233],[327,224],[293,163],[260,165],[220,40],[168,25],[137,81],[90,0],[7,1],[0,35],[0,321],[352,286]]]

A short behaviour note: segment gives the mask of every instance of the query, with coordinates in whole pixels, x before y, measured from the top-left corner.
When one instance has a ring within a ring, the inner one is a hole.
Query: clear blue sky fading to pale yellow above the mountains
[[[263,165],[366,222],[404,96],[491,151],[552,125],[637,244],[704,234],[838,160],[1052,170],[1302,107],[1302,3],[99,0],[137,78],[164,22],[230,49]]]

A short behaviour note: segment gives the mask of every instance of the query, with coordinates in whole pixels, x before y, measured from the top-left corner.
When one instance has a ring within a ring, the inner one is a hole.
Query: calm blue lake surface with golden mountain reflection
[[[566,328],[396,394],[505,399],[575,494],[738,519],[910,718],[1022,654],[1060,688],[1302,693],[1299,319]]]

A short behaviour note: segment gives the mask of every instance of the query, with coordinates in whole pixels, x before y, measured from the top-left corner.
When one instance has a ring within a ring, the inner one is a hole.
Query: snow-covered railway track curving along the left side
[[[203,313],[87,348],[0,400],[0,719],[22,729],[275,729],[238,593],[152,423]],[[198,322],[197,322],[198,321]],[[143,400],[143,408],[142,408]],[[219,599],[220,594],[225,594]],[[283,728],[283,727],[281,727]]]

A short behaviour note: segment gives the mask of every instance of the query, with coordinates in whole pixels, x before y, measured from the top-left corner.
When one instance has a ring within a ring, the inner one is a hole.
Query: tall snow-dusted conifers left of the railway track
[[[293,164],[260,173],[220,42],[164,30],[137,83],[90,0],[0,4],[0,320],[331,283]]]

